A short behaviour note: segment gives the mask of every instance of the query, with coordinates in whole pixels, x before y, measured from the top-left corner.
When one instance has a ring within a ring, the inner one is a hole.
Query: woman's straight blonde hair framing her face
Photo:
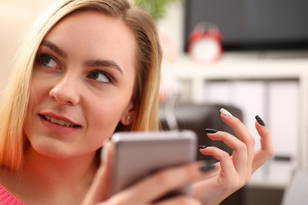
[[[126,0],[65,0],[43,13],[23,39],[10,82],[0,105],[0,164],[18,170],[23,162],[31,74],[36,53],[45,35],[66,15],[80,9],[99,10],[117,18],[135,36],[136,81],[132,100],[135,115],[131,125],[119,122],[116,131],[158,130],[158,91],[161,48],[155,23],[145,11],[131,7]]]

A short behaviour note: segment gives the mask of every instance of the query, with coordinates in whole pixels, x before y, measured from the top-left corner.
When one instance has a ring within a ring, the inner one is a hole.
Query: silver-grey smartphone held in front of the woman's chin
[[[111,141],[115,146],[111,194],[160,169],[192,162],[197,157],[197,135],[190,130],[117,132]],[[190,185],[163,198],[176,194],[190,194]]]

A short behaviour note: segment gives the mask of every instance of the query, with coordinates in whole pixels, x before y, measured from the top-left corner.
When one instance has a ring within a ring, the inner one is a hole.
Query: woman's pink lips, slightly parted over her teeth
[[[60,124],[56,124],[56,123],[53,123],[51,121],[48,121],[46,120],[43,116],[50,116],[50,117],[54,117],[58,120],[63,120],[63,121],[66,121],[66,122],[69,122],[69,123],[72,123],[72,124],[75,124],[75,125],[78,125],[76,122],[66,118],[66,117],[63,117],[63,116],[59,116],[59,115],[56,115],[54,113],[40,113],[38,115],[41,123],[49,130],[53,131],[53,132],[57,132],[57,133],[63,133],[63,134],[69,134],[69,133],[73,133],[73,132],[76,132],[78,130],[80,130],[81,126],[78,125],[77,127],[66,127],[66,126],[63,126],[63,125],[60,125]]]

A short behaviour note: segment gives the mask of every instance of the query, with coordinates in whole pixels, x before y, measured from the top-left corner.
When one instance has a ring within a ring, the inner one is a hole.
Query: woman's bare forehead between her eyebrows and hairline
[[[44,40],[61,45],[64,50],[73,49],[74,54],[134,64],[136,43],[132,30],[121,19],[100,11],[70,13],[49,31]]]

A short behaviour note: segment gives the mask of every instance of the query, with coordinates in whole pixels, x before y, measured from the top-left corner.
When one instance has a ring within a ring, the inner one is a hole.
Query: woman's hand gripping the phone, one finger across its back
[[[203,178],[209,178],[205,162],[193,162],[167,168],[140,180],[119,193],[109,196],[113,144],[104,146],[100,165],[83,205],[201,205],[191,196],[174,196],[156,201],[167,193]]]

